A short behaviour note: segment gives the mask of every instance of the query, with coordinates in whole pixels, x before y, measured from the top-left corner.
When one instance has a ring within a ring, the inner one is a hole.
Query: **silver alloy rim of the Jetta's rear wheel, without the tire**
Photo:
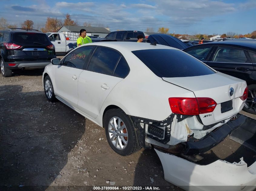
[[[128,143],[128,133],[123,120],[119,117],[112,117],[108,123],[108,135],[110,141],[118,150],[123,150]]]

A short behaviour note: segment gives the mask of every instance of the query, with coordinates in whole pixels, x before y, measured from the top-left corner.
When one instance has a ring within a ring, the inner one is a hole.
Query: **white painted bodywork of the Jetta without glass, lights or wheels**
[[[226,112],[226,116],[222,117],[223,114],[220,114],[220,108],[217,106],[215,108],[216,111],[214,110],[212,112],[211,117],[204,119],[203,116],[200,116],[203,124],[196,119],[196,116],[188,117],[180,122],[178,122],[175,116],[175,119],[171,123],[171,139],[168,142],[169,145],[175,145],[180,142],[186,142],[188,135],[192,135],[193,133],[195,138],[203,137],[207,132],[227,123],[244,105],[243,101],[239,98],[242,96],[243,89],[246,87],[246,83],[243,80],[218,72],[213,75],[196,77],[164,78],[165,81],[163,81],[162,78],[156,76],[143,62],[141,62],[140,59],[138,59],[138,57],[131,53],[133,50],[141,49],[175,48],[163,45],[152,46],[149,43],[134,42],[100,42],[93,43],[93,45],[106,46],[118,50],[125,57],[130,67],[128,76],[122,79],[87,70],[80,70],[67,66],[56,67],[54,65],[47,66],[44,74],[47,73],[52,79],[55,93],[59,98],[65,100],[73,109],[78,111],[78,113],[101,127],[103,126],[103,113],[110,105],[120,107],[130,116],[162,121],[167,119],[172,113],[168,102],[169,97],[195,97],[196,94],[198,97],[211,97],[217,103],[221,103],[221,101],[232,99],[232,97],[228,97],[228,91],[231,84],[235,89],[233,97],[236,97],[233,101],[234,110]],[[54,69],[56,72],[59,67],[66,68],[64,70],[66,73],[62,75],[60,73],[56,76],[52,70]],[[78,70],[79,72],[75,73],[73,70]],[[80,71],[82,75],[80,74]],[[78,83],[72,79],[73,75],[78,77]],[[220,80],[216,78],[220,78]],[[103,90],[103,88],[101,88],[102,84],[107,84],[109,89]],[[78,89],[76,90],[77,87]],[[203,88],[206,90],[203,91]],[[77,91],[77,94],[75,91]],[[218,94],[217,91],[221,91],[221,94]],[[78,97],[78,100],[76,100],[76,96]],[[207,130],[202,130],[205,125],[221,121],[222,123],[217,123]],[[145,131],[148,132],[147,129],[145,129]]]

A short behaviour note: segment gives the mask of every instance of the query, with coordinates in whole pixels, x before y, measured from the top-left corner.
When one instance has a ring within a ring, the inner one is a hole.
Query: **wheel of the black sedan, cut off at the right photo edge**
[[[251,114],[256,114],[256,84],[248,85],[248,98],[243,110]]]

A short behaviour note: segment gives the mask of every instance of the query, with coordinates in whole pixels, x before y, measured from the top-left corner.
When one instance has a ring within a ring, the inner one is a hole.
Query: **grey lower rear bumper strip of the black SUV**
[[[14,66],[9,66],[8,63],[15,64]],[[39,69],[45,68],[46,65],[51,64],[51,60],[45,61],[24,61],[24,62],[5,62],[5,68],[10,70],[14,69]]]

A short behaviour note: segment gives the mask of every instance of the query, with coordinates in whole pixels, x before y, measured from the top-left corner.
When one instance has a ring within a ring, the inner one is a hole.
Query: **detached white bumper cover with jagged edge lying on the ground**
[[[165,180],[188,191],[252,191],[256,187],[256,162],[250,167],[241,158],[238,163],[217,160],[199,165],[175,155],[157,152]]]

